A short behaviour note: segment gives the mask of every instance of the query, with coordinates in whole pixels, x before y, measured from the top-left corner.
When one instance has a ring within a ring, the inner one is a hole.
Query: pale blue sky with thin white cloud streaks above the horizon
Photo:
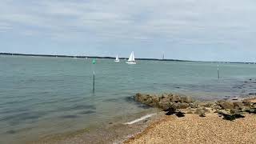
[[[0,52],[256,62],[255,0],[1,0]]]

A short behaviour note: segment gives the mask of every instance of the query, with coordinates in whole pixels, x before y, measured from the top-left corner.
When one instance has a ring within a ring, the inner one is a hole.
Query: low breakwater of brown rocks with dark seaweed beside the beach
[[[185,114],[198,114],[206,117],[207,113],[216,113],[223,119],[233,121],[235,118],[244,118],[243,114],[256,114],[256,98],[242,101],[211,101],[200,102],[182,94],[136,94],[135,101],[147,106],[165,110],[166,115],[176,114],[184,117]]]

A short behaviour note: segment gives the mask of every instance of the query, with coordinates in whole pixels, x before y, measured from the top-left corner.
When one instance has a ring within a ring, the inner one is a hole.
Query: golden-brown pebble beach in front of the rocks
[[[256,114],[232,121],[218,114],[164,116],[125,143],[256,143]]]

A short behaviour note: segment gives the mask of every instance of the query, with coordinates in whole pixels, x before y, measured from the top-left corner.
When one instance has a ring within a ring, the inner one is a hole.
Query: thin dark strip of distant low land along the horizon
[[[58,54],[18,54],[18,53],[0,53],[0,55],[14,55],[14,56],[33,56],[33,57],[59,57],[59,58],[101,58],[101,59],[115,59],[114,57],[98,57],[98,56],[71,56]],[[126,58],[120,58],[126,59]],[[172,62],[207,62],[207,61],[189,61],[180,59],[158,59],[158,58],[136,58],[137,60],[146,61],[172,61]],[[240,63],[240,64],[256,64],[256,62],[214,62],[214,63]]]

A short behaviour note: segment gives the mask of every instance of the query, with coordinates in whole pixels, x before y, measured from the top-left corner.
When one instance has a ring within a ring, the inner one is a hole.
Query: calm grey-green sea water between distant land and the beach
[[[145,107],[137,92],[174,92],[194,98],[255,93],[256,65],[0,56],[0,143],[81,130]],[[92,71],[96,73],[92,92]],[[249,79],[252,78],[252,81]],[[128,119],[128,118],[127,118]]]

